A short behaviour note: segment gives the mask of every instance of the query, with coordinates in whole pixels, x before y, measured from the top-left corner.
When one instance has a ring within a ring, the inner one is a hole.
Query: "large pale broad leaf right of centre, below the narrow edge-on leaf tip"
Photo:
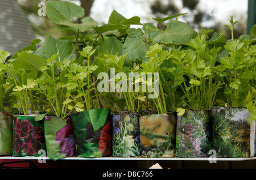
[[[154,43],[187,44],[192,38],[197,37],[197,32],[188,24],[174,20],[167,23],[167,29],[154,39]]]

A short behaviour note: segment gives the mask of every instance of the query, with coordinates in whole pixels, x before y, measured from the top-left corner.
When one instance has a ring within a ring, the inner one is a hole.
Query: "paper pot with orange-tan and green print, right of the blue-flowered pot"
[[[176,113],[139,117],[143,157],[174,157]]]

